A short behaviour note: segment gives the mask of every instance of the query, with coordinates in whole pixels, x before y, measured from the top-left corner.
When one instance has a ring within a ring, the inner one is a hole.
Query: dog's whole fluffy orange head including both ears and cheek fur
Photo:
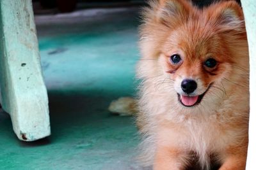
[[[218,101],[232,89],[224,81],[236,81],[234,74],[243,74],[236,68],[248,63],[239,5],[228,1],[198,10],[186,1],[167,0],[153,11],[157,16],[146,18],[141,29],[141,51],[146,59],[156,60],[140,69],[148,77],[162,74],[170,80],[166,93],[185,107]]]

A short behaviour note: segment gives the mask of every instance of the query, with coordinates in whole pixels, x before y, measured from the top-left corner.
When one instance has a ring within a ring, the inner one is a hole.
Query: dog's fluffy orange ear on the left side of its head
[[[170,24],[177,20],[184,22],[193,11],[193,6],[186,0],[159,0],[155,10],[158,22]]]

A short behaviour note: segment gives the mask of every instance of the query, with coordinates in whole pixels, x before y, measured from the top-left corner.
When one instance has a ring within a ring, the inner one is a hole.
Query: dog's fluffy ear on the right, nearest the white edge
[[[211,11],[218,24],[236,29],[243,24],[243,11],[236,1],[225,1],[211,6]]]

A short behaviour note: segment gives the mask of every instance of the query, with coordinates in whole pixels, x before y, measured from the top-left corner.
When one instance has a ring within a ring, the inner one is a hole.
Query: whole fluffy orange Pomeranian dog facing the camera
[[[236,1],[198,9],[152,1],[143,11],[138,127],[154,169],[244,170],[248,146],[248,45]],[[195,165],[194,165],[195,166]]]

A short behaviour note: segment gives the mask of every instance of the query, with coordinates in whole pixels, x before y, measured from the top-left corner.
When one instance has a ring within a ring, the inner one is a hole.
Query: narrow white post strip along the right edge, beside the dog
[[[241,0],[250,53],[250,123],[246,169],[256,169],[256,1]]]

